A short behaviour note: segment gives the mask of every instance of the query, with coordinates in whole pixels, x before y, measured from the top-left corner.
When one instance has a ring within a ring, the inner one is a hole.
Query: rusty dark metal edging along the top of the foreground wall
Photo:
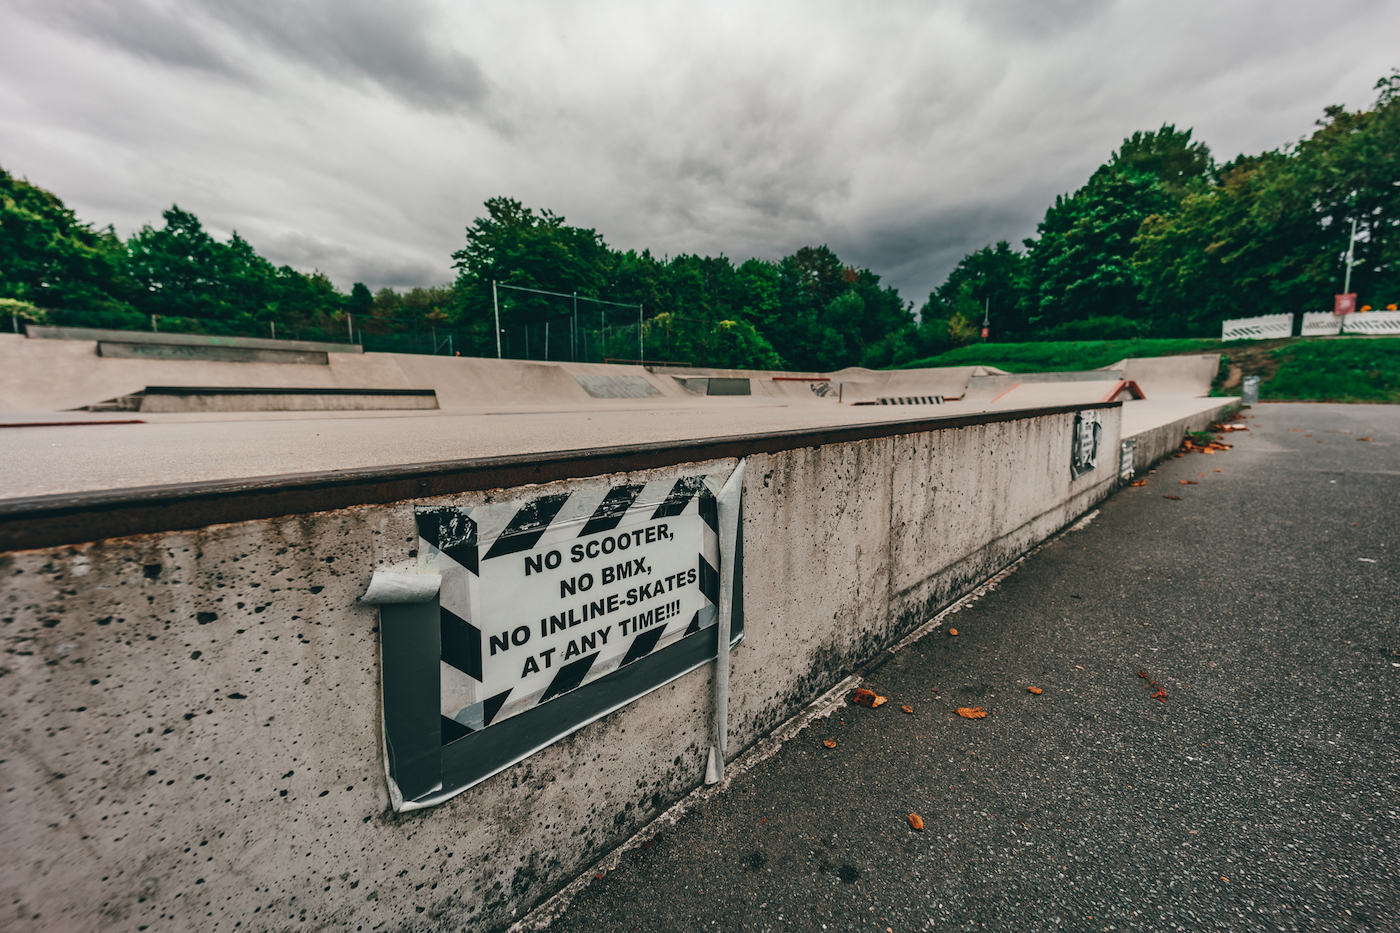
[[[690,441],[566,450],[552,454],[514,454],[3,499],[0,551],[56,548],[102,538],[189,531],[216,524],[655,469],[707,459],[771,454],[798,447],[1000,424],[1121,405],[1121,402],[1054,405]]]

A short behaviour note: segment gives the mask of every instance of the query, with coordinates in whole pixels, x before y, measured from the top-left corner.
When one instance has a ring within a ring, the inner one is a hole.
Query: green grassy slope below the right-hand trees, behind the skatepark
[[[1400,338],[974,343],[900,368],[980,363],[1009,373],[1054,373],[1093,370],[1130,356],[1211,352],[1228,356],[1238,374],[1260,375],[1263,398],[1400,403]],[[1225,392],[1239,395],[1239,385]]]

